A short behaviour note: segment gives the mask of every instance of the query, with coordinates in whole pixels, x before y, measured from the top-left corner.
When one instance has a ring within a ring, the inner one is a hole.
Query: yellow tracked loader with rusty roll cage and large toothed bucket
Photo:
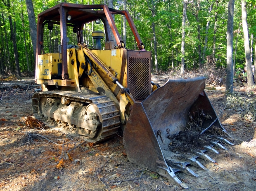
[[[137,50],[126,49],[113,15],[126,17]],[[89,31],[92,23],[103,24],[104,31]],[[185,132],[192,113],[207,113],[201,129],[226,131],[204,91],[205,77],[169,79],[160,87],[151,81],[151,60],[128,11],[60,3],[38,14],[35,82],[42,91],[33,95],[33,114],[88,142],[110,139],[121,129],[129,161],[187,189],[175,172],[197,177],[188,165],[206,170],[199,160],[215,161],[204,152],[218,154],[214,147],[232,143],[215,136],[203,150],[170,151],[170,136]]]

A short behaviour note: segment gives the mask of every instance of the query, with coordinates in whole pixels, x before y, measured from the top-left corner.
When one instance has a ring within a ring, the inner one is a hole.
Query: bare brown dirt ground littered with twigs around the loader
[[[153,75],[152,79],[163,85],[168,77],[170,74],[165,73]],[[11,80],[4,82],[24,82]],[[33,77],[24,80],[31,82]],[[1,88],[4,86],[0,84],[0,190],[182,190],[168,179],[130,163],[121,132],[106,142],[90,144],[82,137],[71,136],[73,132],[61,126],[49,123],[35,124],[37,128],[27,126],[26,117],[32,115],[31,97],[37,87]],[[246,88],[235,91],[248,97]],[[225,108],[226,95],[209,91],[207,94],[219,114]],[[218,155],[207,152],[216,163],[200,160],[208,170],[192,167],[199,174],[197,178],[177,172],[189,186],[187,190],[254,191],[256,188],[256,123],[230,109],[222,112],[220,121],[235,145],[225,145],[227,151],[217,149]]]

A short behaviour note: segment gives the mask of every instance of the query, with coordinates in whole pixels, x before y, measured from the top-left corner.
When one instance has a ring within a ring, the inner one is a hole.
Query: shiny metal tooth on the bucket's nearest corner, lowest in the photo
[[[168,178],[173,183],[178,184],[179,186],[181,186],[185,189],[188,188],[188,186],[184,182],[181,182],[180,179],[178,179],[178,177],[176,177],[176,175],[171,167],[166,168],[166,167],[158,166],[156,169],[156,172],[159,175]]]

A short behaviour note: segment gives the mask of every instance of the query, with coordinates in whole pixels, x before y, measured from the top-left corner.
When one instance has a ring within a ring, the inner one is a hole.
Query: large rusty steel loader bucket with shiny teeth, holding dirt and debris
[[[195,156],[184,156],[173,153],[168,147],[171,142],[169,135],[184,131],[190,120],[189,113],[199,110],[211,116],[204,121],[202,128],[214,122],[214,126],[225,131],[204,88],[204,77],[169,79],[144,101],[136,102],[123,132],[123,144],[129,161],[158,172],[183,188],[188,186],[175,176],[176,171],[197,177],[196,173],[187,168],[188,164],[206,170],[197,161],[197,157],[215,162],[204,154],[205,150],[195,150]]]

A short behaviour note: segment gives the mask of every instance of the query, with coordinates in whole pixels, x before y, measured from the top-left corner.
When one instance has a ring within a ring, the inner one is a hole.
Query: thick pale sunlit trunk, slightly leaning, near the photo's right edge
[[[255,86],[254,79],[252,76],[251,70],[251,53],[250,53],[250,46],[249,46],[249,34],[248,34],[248,26],[247,26],[247,12],[246,12],[246,2],[242,0],[242,25],[243,25],[243,32],[244,32],[244,51],[245,51],[245,63],[247,66],[247,80],[248,86],[252,87]]]

